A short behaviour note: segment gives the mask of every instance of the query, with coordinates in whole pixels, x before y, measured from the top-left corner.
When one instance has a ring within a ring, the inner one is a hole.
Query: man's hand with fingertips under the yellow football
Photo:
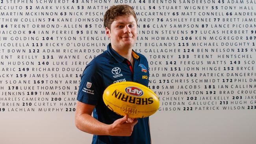
[[[137,122],[137,119],[128,118],[126,115],[123,118],[115,120],[113,124],[109,125],[109,134],[112,136],[131,136]]]

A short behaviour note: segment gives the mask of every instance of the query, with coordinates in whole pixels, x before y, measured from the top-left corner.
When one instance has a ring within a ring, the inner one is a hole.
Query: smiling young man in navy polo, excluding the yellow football
[[[148,86],[147,59],[132,50],[137,39],[135,12],[128,5],[112,6],[104,15],[104,26],[111,43],[85,67],[78,91],[76,127],[93,134],[93,144],[150,144],[148,118],[120,116],[102,99],[112,83],[134,81]]]

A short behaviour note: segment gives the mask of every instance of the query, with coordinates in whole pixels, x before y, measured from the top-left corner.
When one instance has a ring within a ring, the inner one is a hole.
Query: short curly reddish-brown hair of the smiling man
[[[111,24],[118,16],[133,16],[137,23],[134,9],[128,5],[111,6],[104,15],[104,27],[110,30]]]

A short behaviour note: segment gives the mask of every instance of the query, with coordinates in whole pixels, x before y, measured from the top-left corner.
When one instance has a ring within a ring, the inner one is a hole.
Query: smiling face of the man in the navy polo
[[[131,48],[137,39],[137,24],[133,16],[118,16],[111,24],[111,31],[106,28],[113,48]]]

